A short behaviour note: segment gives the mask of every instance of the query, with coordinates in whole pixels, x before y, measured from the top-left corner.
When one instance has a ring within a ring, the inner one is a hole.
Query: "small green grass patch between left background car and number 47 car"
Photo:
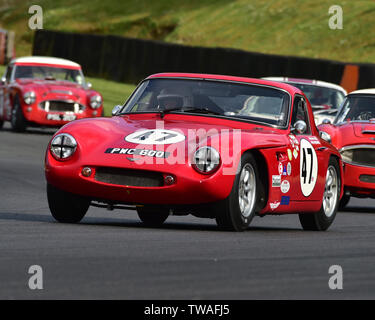
[[[5,66],[0,66],[0,75],[3,75]],[[135,89],[135,85],[123,84],[98,78],[86,77],[92,83],[92,88],[103,95],[104,115],[110,116],[113,107],[123,104]]]

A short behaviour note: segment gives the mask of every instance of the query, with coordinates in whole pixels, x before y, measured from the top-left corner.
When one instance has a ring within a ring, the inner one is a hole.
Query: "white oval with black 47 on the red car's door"
[[[300,144],[300,184],[302,194],[308,197],[314,190],[318,178],[318,159],[312,144],[301,139]]]

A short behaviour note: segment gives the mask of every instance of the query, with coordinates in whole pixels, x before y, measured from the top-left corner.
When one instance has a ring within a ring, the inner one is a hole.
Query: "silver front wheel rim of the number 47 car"
[[[256,194],[256,178],[254,168],[247,163],[241,170],[238,186],[238,202],[241,215],[248,218],[253,212]]]

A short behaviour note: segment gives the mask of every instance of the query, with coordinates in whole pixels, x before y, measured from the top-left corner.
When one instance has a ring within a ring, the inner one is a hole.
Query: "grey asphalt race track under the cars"
[[[53,131],[0,131],[0,299],[374,299],[375,201],[351,200],[327,232],[297,216],[255,218],[243,233],[170,217],[90,208],[80,224],[49,214],[43,157]],[[30,290],[28,268],[43,268]],[[331,265],[343,289],[331,290]]]

